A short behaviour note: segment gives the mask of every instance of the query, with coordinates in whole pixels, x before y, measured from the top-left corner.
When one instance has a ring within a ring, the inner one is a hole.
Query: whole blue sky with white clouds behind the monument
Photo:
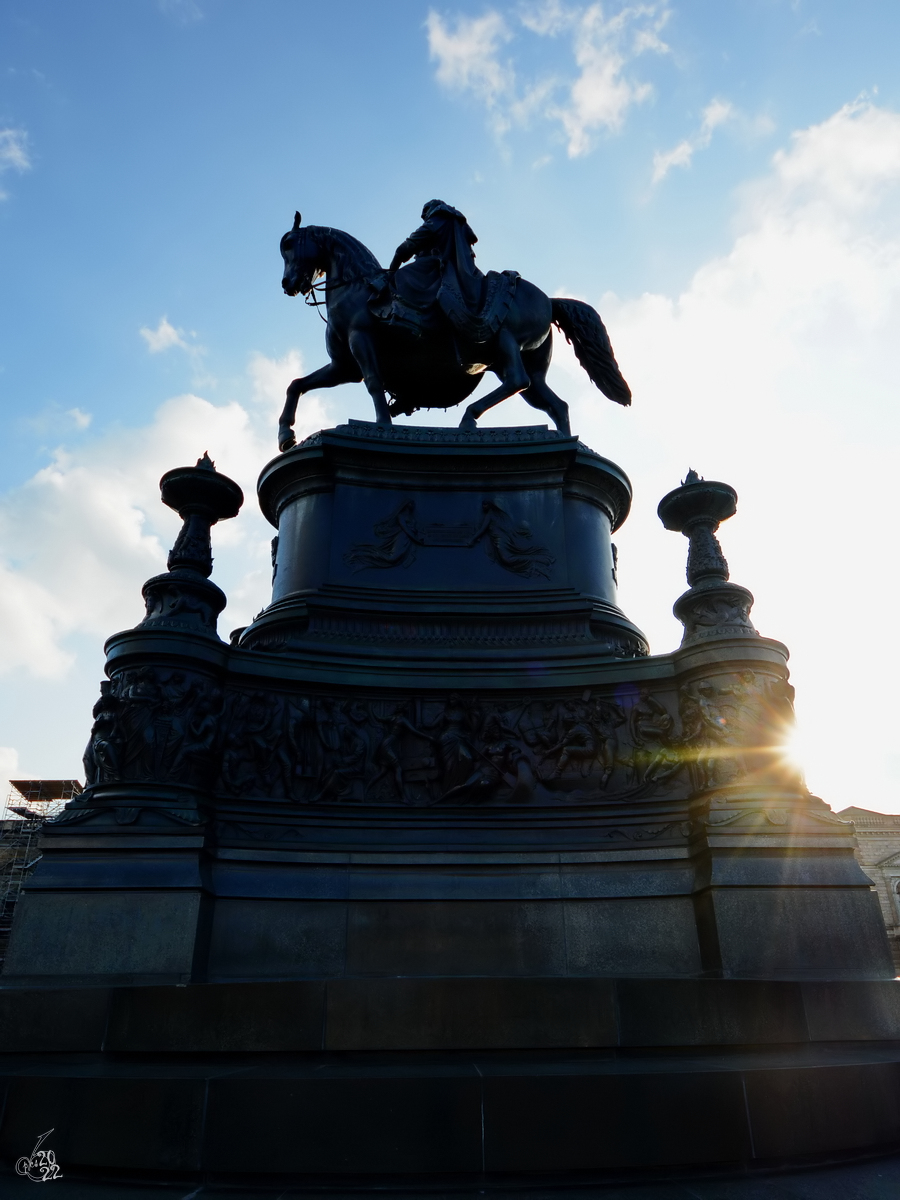
[[[740,494],[722,541],[792,649],[811,786],[900,810],[899,49],[893,0],[2,0],[0,769],[80,772],[103,638],[174,538],[163,470],[239,479],[223,630],[266,602],[253,481],[324,362],[278,238],[300,208],[386,263],[439,196],[482,268],[607,322],[634,408],[559,344],[554,386],[635,484],[653,649],[685,551],[655,506],[694,466]],[[343,388],[300,425],[367,415]]]

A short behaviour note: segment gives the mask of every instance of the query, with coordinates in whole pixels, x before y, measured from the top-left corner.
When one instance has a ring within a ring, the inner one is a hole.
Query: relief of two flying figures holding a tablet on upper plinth
[[[491,562],[523,578],[550,577],[556,558],[544,546],[535,546],[527,522],[515,520],[494,500],[481,502],[478,522],[430,524],[415,521],[415,500],[406,500],[374,526],[376,542],[356,542],[343,557],[356,571],[409,566],[416,547],[467,550],[481,542]]]

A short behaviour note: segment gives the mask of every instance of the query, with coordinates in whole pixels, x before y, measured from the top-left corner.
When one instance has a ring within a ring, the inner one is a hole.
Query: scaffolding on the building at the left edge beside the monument
[[[77,779],[11,779],[0,815],[0,970],[22,886],[41,859],[41,827],[82,791]]]

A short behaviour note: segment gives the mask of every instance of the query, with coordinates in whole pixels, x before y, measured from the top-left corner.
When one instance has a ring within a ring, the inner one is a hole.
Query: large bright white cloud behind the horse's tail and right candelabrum
[[[575,427],[642,490],[620,548],[622,604],[655,652],[686,542],[659,498],[689,466],[740,494],[721,529],[757,628],[791,648],[810,786],[900,811],[892,713],[900,634],[900,113],[848,104],[793,136],[742,196],[728,253],[677,296],[595,298],[634,407],[605,404],[557,340]],[[605,407],[601,407],[605,406]]]

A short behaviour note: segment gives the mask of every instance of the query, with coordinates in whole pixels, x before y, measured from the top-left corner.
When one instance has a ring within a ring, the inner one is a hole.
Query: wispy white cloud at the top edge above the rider
[[[652,95],[652,85],[632,78],[629,68],[643,54],[668,52],[660,37],[667,18],[665,5],[655,2],[611,11],[600,2],[546,0],[509,16],[490,10],[445,20],[431,12],[426,26],[438,83],[479,100],[497,133],[535,116],[558,122],[570,157],[578,157],[593,149],[599,132],[618,132],[629,109]],[[571,61],[523,82],[514,59],[500,59],[523,31],[541,38],[568,35]]]

